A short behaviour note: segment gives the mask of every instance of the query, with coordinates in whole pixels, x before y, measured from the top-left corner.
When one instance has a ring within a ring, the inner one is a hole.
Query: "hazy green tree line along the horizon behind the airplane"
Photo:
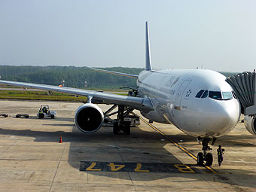
[[[142,68],[111,67],[102,68],[114,72],[139,75]],[[221,72],[230,76],[236,73]],[[136,79],[105,72],[96,72],[88,67],[75,66],[0,66],[2,80],[20,81],[35,84],[59,85],[65,81],[66,87],[84,88],[85,81],[88,89],[113,90],[119,87],[136,88]]]

